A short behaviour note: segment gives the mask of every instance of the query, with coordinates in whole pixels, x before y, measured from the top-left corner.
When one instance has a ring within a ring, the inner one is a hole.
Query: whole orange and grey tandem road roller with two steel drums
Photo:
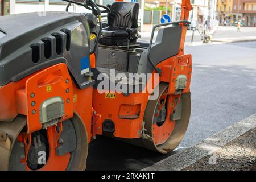
[[[67,12],[0,18],[0,170],[84,170],[97,135],[174,150],[191,113],[190,1],[150,42],[139,3],[64,1]]]

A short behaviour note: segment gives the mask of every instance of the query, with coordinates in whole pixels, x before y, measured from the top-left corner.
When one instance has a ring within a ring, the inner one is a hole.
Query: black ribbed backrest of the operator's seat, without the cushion
[[[117,30],[138,27],[139,3],[114,2],[108,13],[108,24]]]

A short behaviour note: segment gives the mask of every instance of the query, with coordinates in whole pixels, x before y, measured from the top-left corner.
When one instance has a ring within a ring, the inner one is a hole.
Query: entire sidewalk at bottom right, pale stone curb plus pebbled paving
[[[255,159],[256,114],[253,114],[142,170],[252,170]]]

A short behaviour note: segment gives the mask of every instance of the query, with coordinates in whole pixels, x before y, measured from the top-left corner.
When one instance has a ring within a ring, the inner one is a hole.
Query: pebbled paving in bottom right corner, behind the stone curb
[[[212,155],[183,169],[189,171],[247,171],[252,170],[256,159],[256,128],[229,142]]]

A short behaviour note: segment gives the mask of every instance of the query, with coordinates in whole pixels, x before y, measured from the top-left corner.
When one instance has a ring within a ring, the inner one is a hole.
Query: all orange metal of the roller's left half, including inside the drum
[[[92,61],[95,62],[94,56]],[[26,156],[22,162],[26,164],[27,170],[30,170],[26,161],[31,146],[31,133],[42,129],[40,106],[43,101],[52,97],[61,97],[64,100],[65,114],[57,123],[60,127],[59,133],[55,125],[47,128],[49,157],[47,165],[40,170],[65,170],[71,155],[67,153],[58,156],[55,152],[62,131],[61,122],[72,118],[73,113],[76,113],[85,123],[86,131],[91,133],[92,86],[83,90],[77,88],[69,75],[67,65],[60,63],[0,88],[0,101],[4,103],[0,105],[0,121],[11,122],[18,114],[27,116],[27,132],[18,137],[18,140],[24,143]],[[90,139],[89,137],[88,142]]]

